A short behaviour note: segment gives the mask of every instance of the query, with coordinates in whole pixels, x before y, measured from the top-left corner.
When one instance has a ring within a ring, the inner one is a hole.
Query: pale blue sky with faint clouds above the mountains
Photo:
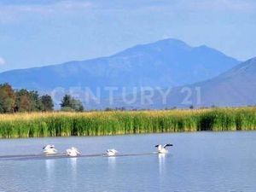
[[[256,56],[255,0],[0,0],[0,72],[177,38]]]

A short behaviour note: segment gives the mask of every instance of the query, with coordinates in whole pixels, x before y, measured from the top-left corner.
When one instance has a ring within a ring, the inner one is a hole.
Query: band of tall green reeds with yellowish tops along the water
[[[256,130],[256,108],[0,115],[1,138],[241,130]]]

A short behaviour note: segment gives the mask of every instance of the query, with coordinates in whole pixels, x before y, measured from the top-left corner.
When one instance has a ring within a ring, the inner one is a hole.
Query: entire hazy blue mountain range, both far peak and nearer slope
[[[256,58],[241,62],[205,45],[192,47],[177,39],[164,39],[108,57],[3,72],[0,83],[4,82],[39,91],[109,86],[154,90],[148,103],[142,103],[141,90],[132,103],[124,102],[117,90],[113,104],[107,99],[100,104],[87,103],[88,108],[246,106],[256,104]],[[163,101],[160,93],[167,92]]]

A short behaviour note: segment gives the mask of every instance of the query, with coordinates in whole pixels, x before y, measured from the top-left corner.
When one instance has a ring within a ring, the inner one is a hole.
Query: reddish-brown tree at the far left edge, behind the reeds
[[[9,84],[0,84],[0,113],[11,113],[15,109],[15,91]]]

